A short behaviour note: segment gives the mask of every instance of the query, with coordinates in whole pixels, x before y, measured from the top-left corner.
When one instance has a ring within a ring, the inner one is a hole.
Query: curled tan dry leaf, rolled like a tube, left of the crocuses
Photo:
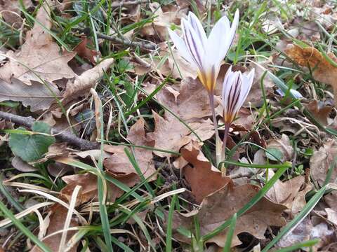
[[[67,88],[63,94],[62,103],[67,104],[73,99],[87,95],[91,87],[95,86],[95,83],[103,77],[105,71],[107,71],[113,63],[113,58],[103,59],[97,66],[77,76],[74,82],[68,81]]]

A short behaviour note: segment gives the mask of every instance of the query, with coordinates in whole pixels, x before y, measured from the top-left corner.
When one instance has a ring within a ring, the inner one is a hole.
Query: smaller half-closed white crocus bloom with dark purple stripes
[[[229,126],[237,116],[237,112],[244,104],[251,85],[253,84],[254,69],[249,73],[227,70],[223,80],[223,118],[225,125]]]

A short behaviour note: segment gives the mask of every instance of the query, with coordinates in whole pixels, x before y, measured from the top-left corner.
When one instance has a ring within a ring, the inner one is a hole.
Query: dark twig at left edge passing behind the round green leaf
[[[10,120],[13,123],[16,123],[18,125],[22,125],[25,127],[29,127],[29,128],[31,128],[33,123],[35,123],[36,121],[31,116],[29,117],[17,116],[17,115],[13,115],[12,113],[7,113],[3,111],[0,111],[0,118],[3,118],[5,120]],[[73,146],[79,147],[81,151],[97,149],[100,146],[98,142],[80,139],[79,137],[76,137],[71,132],[60,132],[58,130],[51,128],[51,134],[55,135],[55,138],[60,141],[65,141],[69,144],[72,144]]]

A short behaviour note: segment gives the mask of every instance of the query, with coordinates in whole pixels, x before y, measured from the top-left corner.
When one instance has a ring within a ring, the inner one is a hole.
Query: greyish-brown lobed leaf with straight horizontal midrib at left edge
[[[34,112],[49,109],[58,98],[60,91],[53,83],[32,82],[29,86],[16,78],[12,78],[11,83],[0,79],[0,102],[22,102],[23,106],[30,106],[30,111]]]

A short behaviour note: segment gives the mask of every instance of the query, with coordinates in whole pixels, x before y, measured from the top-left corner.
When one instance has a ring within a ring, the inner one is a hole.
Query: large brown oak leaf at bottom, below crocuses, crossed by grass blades
[[[200,185],[202,186],[202,184]],[[222,223],[230,219],[233,214],[242,209],[245,204],[251,200],[260,190],[259,186],[245,184],[242,186],[232,187],[230,184],[224,186],[216,193],[205,197],[201,202],[199,210],[200,235],[206,235],[214,229],[218,228]],[[282,217],[282,212],[286,207],[281,204],[275,204],[267,198],[263,197],[249,211],[237,219],[237,225],[232,239],[232,247],[242,244],[237,235],[242,232],[248,232],[258,239],[265,239],[265,230],[270,226],[282,227],[286,224]],[[176,239],[190,242],[185,237],[178,234],[175,230],[180,226],[189,228],[192,225],[192,216],[182,216],[174,214],[173,230]],[[223,247],[226,241],[227,230],[209,239],[208,243],[216,243]]]

